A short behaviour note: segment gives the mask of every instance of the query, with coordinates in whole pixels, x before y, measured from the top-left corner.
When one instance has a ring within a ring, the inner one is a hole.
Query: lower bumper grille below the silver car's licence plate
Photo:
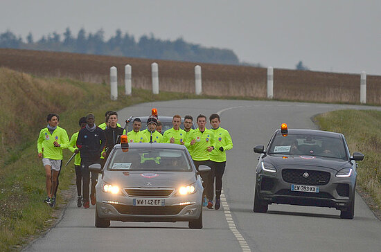
[[[122,215],[177,215],[186,206],[125,206],[112,204]]]

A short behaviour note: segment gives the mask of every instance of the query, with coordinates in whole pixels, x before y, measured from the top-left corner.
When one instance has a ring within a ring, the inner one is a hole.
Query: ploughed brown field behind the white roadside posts
[[[118,68],[124,84],[124,66],[132,66],[132,86],[150,89],[151,63],[159,64],[163,91],[195,92],[195,62],[174,62],[128,57],[83,55],[0,48],[0,66],[36,76],[109,82],[109,68]],[[212,96],[266,98],[267,69],[252,66],[200,64],[203,93]],[[324,73],[274,69],[274,98],[313,102],[360,103],[360,73]],[[381,105],[381,76],[367,76],[366,101]]]

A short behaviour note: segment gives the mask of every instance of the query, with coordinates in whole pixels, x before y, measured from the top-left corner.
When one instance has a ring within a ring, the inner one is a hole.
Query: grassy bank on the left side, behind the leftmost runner
[[[0,68],[0,251],[19,250],[30,237],[52,225],[52,216],[64,201],[64,190],[73,184],[73,163],[62,167],[55,209],[42,203],[46,197],[45,172],[37,158],[37,136],[46,127],[46,115],[60,114],[60,127],[69,138],[78,129],[78,120],[92,112],[96,123],[103,123],[105,111],[118,110],[152,98],[174,100],[209,98],[186,93],[132,89],[112,101],[109,86],[68,78],[34,78],[32,75]],[[150,113],[150,111],[148,111]],[[71,152],[64,150],[66,163]]]

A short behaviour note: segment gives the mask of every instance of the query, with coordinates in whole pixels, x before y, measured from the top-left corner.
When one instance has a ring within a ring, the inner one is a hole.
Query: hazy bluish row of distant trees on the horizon
[[[154,35],[143,35],[136,40],[128,33],[116,30],[114,36],[105,40],[103,30],[87,33],[80,29],[75,37],[70,28],[60,35],[52,33],[37,41],[32,33],[26,41],[10,30],[0,34],[0,48],[19,48],[41,51],[64,51],[95,55],[116,55],[125,57],[143,57],[158,60],[180,60],[188,62],[206,62],[218,64],[240,64],[237,55],[229,49],[206,48],[199,44],[190,44],[179,38],[175,41],[161,40]]]

